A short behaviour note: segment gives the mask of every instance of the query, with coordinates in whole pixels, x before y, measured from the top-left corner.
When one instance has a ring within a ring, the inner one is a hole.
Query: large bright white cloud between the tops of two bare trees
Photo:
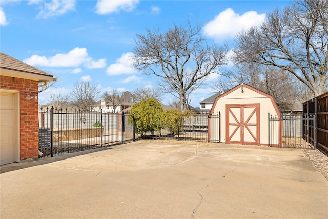
[[[248,11],[239,15],[233,9],[227,8],[205,25],[203,30],[207,36],[213,38],[231,38],[242,29],[261,24],[264,19],[265,14],[258,14],[256,11]]]

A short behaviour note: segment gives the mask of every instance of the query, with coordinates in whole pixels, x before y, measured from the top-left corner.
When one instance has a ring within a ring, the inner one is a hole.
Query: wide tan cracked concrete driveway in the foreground
[[[1,171],[1,218],[328,218],[299,149],[137,141]]]

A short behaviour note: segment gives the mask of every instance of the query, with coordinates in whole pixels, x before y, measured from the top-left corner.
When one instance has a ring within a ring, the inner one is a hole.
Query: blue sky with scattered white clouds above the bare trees
[[[204,25],[202,34],[218,45],[241,29],[260,24],[275,8],[290,1],[75,1],[9,0],[0,2],[0,50],[58,78],[39,94],[46,104],[51,92],[68,94],[74,83],[91,80],[100,93],[118,89],[157,88],[156,76],[131,68],[133,40],[145,28],[166,31],[173,23]],[[229,53],[228,53],[229,54]],[[226,66],[224,68],[229,68]],[[214,94],[211,76],[190,95],[191,105]],[[166,94],[163,104],[175,99]]]

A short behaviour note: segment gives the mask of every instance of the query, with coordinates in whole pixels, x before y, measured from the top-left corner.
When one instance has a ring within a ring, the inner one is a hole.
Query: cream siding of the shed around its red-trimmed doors
[[[240,86],[240,85],[239,85]],[[238,87],[238,86],[237,86]],[[261,92],[256,92],[255,89],[253,90],[251,88],[248,88],[249,86],[244,85],[243,86],[243,92],[241,87],[237,89],[232,89],[232,92],[227,92],[227,95],[224,95],[222,97],[218,97],[211,109],[211,112],[220,112],[221,113],[221,142],[226,142],[226,124],[227,124],[227,118],[226,118],[226,105],[244,105],[244,104],[259,104],[259,126],[260,126],[260,144],[261,145],[268,145],[269,142],[269,133],[268,133],[268,112],[270,112],[271,115],[279,116],[280,113],[277,113],[277,107],[275,107],[275,103],[272,103],[272,99],[268,96],[265,96],[261,94]],[[230,121],[232,118],[230,118]],[[212,124],[210,125],[210,138],[213,139],[214,136],[217,135],[217,129],[212,127]],[[249,127],[250,129],[254,127]],[[252,130],[254,131],[254,130]],[[280,133],[280,127],[278,127],[278,131]],[[212,135],[214,135],[212,137]],[[237,136],[238,137],[238,136]],[[251,138],[251,136],[244,136],[245,140],[248,140]],[[277,136],[279,138],[279,136]],[[236,140],[237,141],[237,140]],[[274,142],[279,142],[279,139],[274,140]]]

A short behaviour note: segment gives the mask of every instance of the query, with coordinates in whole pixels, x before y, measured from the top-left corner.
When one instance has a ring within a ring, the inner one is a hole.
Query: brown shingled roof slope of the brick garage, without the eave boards
[[[13,70],[13,71],[20,71],[20,72],[25,72],[25,73],[30,73],[40,76],[46,76],[43,77],[43,79],[52,77],[52,79],[49,78],[48,81],[53,81],[53,75],[48,74],[42,70],[39,70],[33,66],[30,66],[22,61],[19,61],[18,59],[11,57],[3,52],[0,52],[0,68]]]

